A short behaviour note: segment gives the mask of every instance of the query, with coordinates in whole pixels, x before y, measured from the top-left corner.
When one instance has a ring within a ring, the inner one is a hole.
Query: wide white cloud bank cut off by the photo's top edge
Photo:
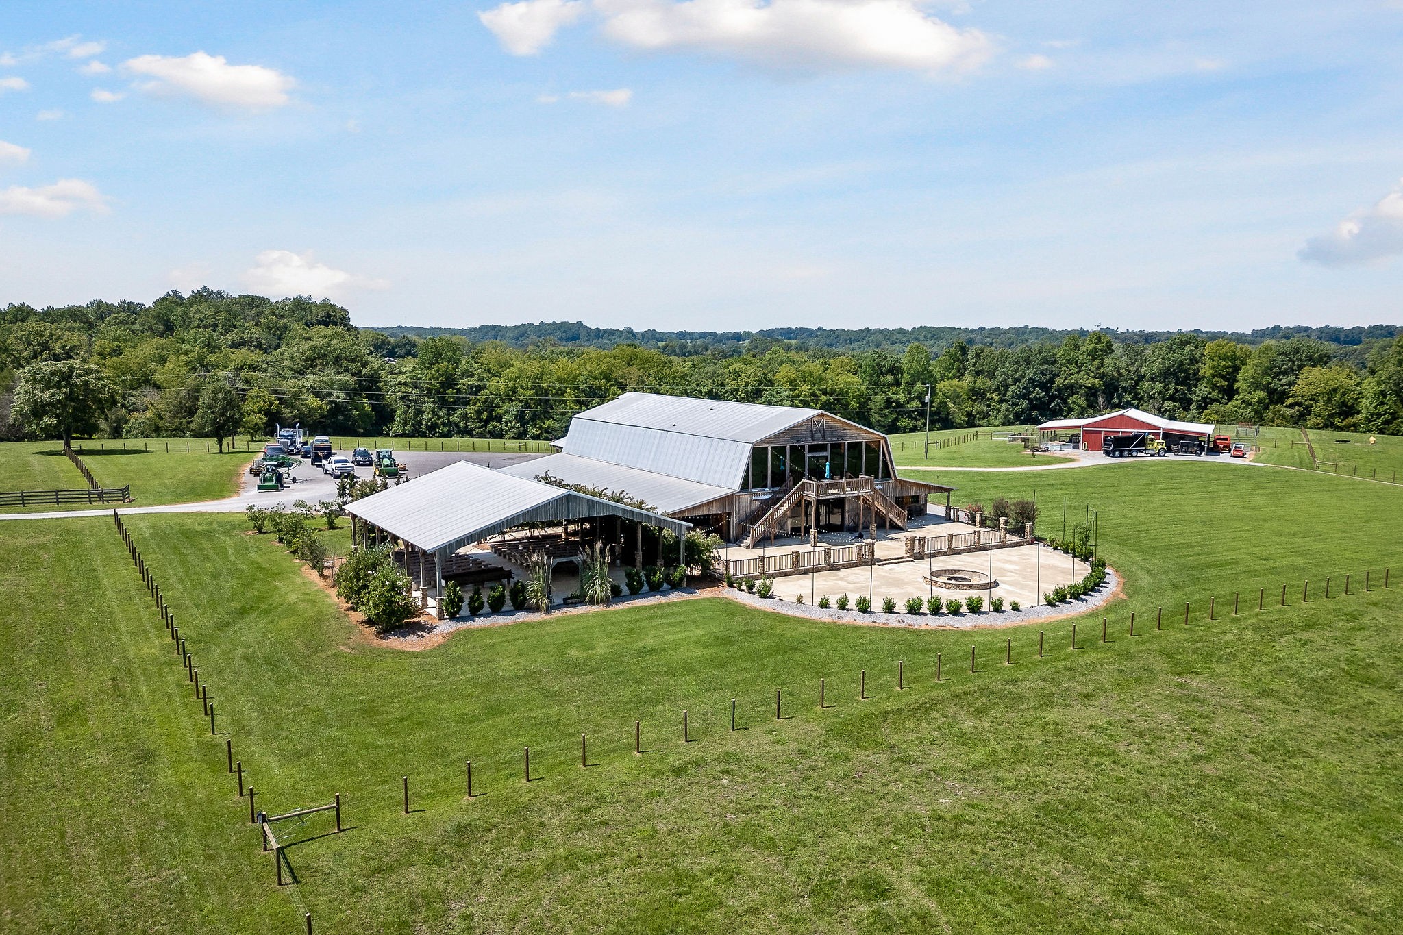
[[[700,50],[769,66],[967,71],[992,53],[978,29],[919,0],[588,0],[603,34],[633,49]],[[478,14],[508,52],[535,55],[584,1],[523,0]]]

